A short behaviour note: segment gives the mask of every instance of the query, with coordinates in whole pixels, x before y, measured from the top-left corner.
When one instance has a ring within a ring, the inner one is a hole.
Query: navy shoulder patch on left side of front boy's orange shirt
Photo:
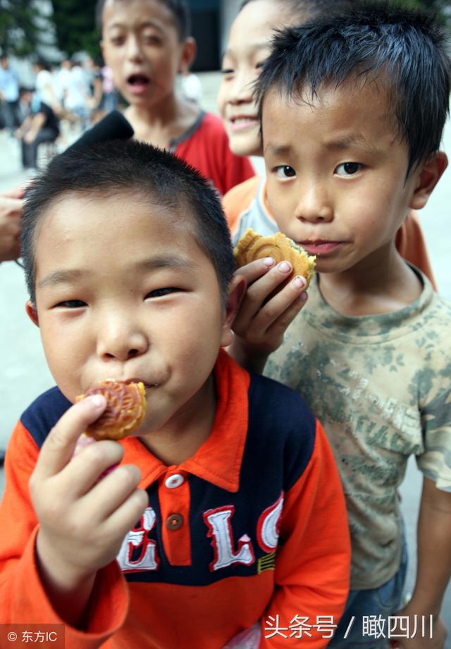
[[[30,433],[40,448],[45,438],[61,416],[70,408],[70,401],[66,399],[61,390],[56,386],[42,393],[20,417],[20,422]]]

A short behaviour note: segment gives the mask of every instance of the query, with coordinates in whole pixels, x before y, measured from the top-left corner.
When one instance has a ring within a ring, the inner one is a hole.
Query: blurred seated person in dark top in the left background
[[[20,101],[30,109],[16,130],[16,137],[22,142],[22,165],[24,169],[37,169],[39,144],[56,140],[59,120],[50,106],[44,104],[31,89],[20,89]]]

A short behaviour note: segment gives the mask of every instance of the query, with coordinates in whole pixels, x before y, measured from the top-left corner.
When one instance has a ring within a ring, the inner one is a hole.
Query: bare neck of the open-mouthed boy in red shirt
[[[175,94],[160,104],[128,106],[125,117],[135,131],[136,140],[166,149],[171,140],[177,140],[199,116],[196,106],[181,101]]]

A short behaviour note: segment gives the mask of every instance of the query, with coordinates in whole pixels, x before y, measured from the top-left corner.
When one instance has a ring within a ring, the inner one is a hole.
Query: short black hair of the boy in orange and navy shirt
[[[150,206],[165,206],[187,221],[215,268],[225,303],[235,257],[216,189],[194,168],[162,149],[133,140],[110,140],[57,156],[27,192],[21,252],[33,304],[36,233],[51,204],[64,194],[111,196],[130,190],[149,197]]]

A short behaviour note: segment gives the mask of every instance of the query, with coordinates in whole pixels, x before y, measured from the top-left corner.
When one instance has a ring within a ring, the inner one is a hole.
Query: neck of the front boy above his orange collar
[[[178,466],[192,457],[209,438],[216,416],[216,387],[213,375],[190,401],[189,409],[178,412],[158,431],[144,434],[145,447],[167,466]]]

